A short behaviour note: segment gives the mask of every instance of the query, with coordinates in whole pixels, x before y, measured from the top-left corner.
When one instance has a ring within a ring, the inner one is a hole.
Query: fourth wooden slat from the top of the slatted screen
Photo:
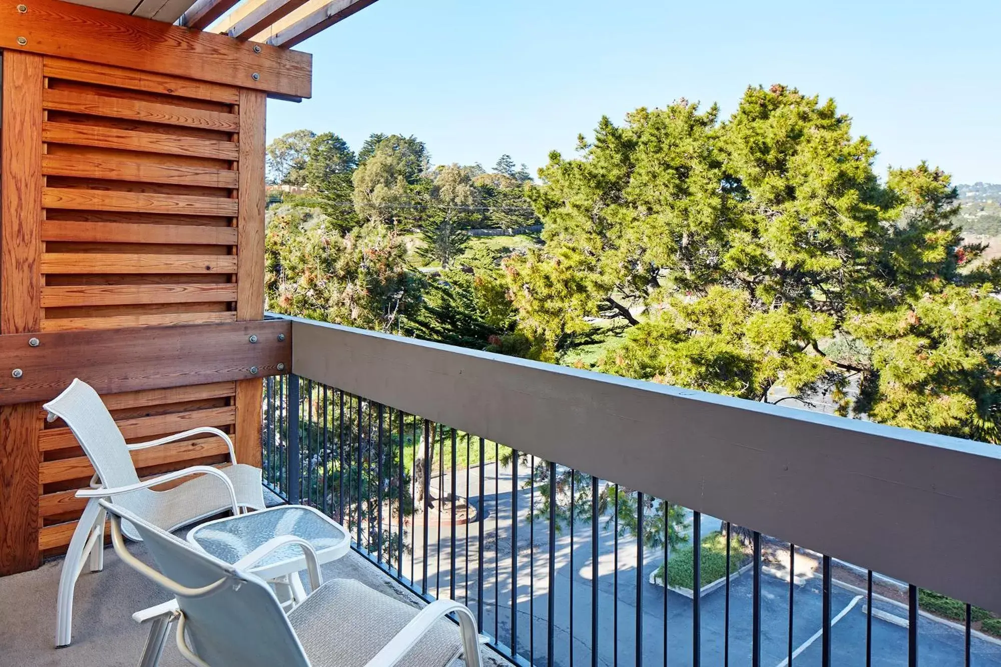
[[[42,173],[54,176],[228,187],[231,189],[236,189],[239,186],[239,172],[235,169],[130,162],[90,155],[42,155]]]

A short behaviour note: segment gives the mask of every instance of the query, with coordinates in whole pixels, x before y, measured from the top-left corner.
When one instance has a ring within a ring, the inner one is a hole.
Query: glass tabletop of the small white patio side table
[[[283,506],[210,521],[193,528],[188,533],[188,541],[221,561],[235,563],[281,535],[294,535],[308,541],[320,563],[342,556],[350,540],[343,528],[312,508]],[[286,545],[261,559],[254,569],[301,558],[300,547]]]

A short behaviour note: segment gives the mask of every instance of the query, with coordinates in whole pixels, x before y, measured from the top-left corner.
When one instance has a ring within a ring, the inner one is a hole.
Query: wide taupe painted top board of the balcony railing
[[[1001,448],[292,320],[292,372],[1001,611]]]

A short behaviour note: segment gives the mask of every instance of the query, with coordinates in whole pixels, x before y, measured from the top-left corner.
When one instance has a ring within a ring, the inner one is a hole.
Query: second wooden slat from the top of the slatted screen
[[[46,109],[58,109],[59,111],[71,111],[93,116],[128,118],[165,125],[201,127],[227,132],[239,131],[239,116],[233,113],[220,113],[105,95],[87,95],[53,88],[44,90],[42,106]]]

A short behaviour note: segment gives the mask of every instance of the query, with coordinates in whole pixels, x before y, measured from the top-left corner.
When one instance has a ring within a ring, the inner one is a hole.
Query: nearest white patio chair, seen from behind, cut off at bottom
[[[462,655],[469,667],[480,667],[476,620],[461,603],[438,600],[418,610],[356,581],[323,584],[312,547],[292,536],[276,537],[229,565],[117,503],[100,504],[111,519],[111,542],[119,558],[176,596],[177,648],[193,665],[444,667]],[[158,570],[125,548],[124,522],[142,536]],[[286,616],[271,588],[245,568],[288,544],[305,553],[312,592]],[[457,617],[458,626],[445,620],[449,614]],[[167,625],[162,626],[164,634]]]

